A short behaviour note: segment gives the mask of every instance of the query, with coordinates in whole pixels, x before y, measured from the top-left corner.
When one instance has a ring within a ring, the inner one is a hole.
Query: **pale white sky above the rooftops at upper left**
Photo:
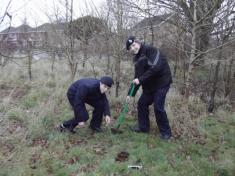
[[[70,2],[71,0],[68,1]],[[95,8],[99,8],[105,3],[105,0],[73,1],[75,18],[84,14],[94,13]],[[65,4],[65,0],[0,0],[0,31],[9,27],[10,24],[13,27],[17,27],[23,24],[25,19],[31,27],[49,22],[49,18],[55,16],[55,9],[60,14],[65,14],[65,5],[63,4]],[[89,7],[90,10],[87,11],[86,7]],[[6,12],[11,16],[11,20],[7,15],[4,17]]]

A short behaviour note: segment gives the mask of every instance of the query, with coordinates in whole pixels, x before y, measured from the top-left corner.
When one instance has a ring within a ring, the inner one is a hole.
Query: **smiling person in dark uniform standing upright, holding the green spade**
[[[171,71],[165,56],[159,49],[140,43],[134,36],[128,37],[126,49],[134,55],[135,76],[133,84],[135,96],[139,87],[143,93],[138,100],[138,126],[131,128],[134,132],[148,133],[149,106],[154,105],[154,113],[161,139],[172,136],[171,128],[164,109],[166,94],[172,83]],[[130,90],[127,100],[130,99]]]

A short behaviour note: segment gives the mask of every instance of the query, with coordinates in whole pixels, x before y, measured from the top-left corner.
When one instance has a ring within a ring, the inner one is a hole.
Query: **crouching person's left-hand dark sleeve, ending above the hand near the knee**
[[[85,122],[89,118],[89,115],[85,106],[85,98],[87,94],[88,94],[87,88],[79,87],[75,95],[75,103],[74,103],[75,118],[78,118],[81,122]]]

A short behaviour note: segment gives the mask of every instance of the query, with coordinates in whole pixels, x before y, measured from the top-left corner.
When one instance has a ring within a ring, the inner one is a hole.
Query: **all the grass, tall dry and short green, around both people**
[[[110,127],[105,125],[102,126],[104,132],[98,134],[92,133],[88,127],[76,129],[75,135],[59,133],[55,127],[73,116],[65,96],[68,82],[62,76],[67,71],[61,68],[62,64],[58,64],[56,68],[62,73],[53,74],[50,79],[52,74],[43,64],[40,63],[44,69],[42,73],[39,70],[33,72],[40,80],[29,86],[31,88],[27,94],[9,99],[7,104],[0,102],[0,116],[3,119],[0,129],[0,176],[235,175],[234,113],[220,110],[214,115],[205,116],[202,113],[203,105],[198,101],[191,111],[199,114],[194,118],[198,122],[197,130],[204,136],[202,142],[184,137],[160,140],[154,121],[149,135],[130,132],[129,126],[136,124],[136,118],[132,115],[128,115],[121,126],[122,134],[112,134]],[[11,81],[14,79],[9,77]],[[6,82],[5,78],[1,82],[16,84]],[[28,83],[23,83],[21,87],[24,86],[28,87]],[[120,97],[125,96],[123,92]],[[115,104],[120,105],[122,100],[111,95],[112,113],[117,116]],[[177,104],[178,108],[181,104],[173,94],[167,101],[172,123],[177,120],[174,119],[174,105]],[[123,151],[129,153],[128,158],[122,162],[116,161]],[[128,165],[141,165],[143,168],[130,169]]]

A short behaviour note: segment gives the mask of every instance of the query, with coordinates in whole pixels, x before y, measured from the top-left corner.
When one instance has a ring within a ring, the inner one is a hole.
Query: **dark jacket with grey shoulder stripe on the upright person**
[[[139,79],[143,93],[154,93],[156,89],[169,86],[172,83],[170,67],[159,49],[141,44],[140,50],[133,58],[133,61],[135,64],[134,79]],[[140,85],[135,87],[132,96],[135,96]],[[130,89],[128,95],[130,95]]]

